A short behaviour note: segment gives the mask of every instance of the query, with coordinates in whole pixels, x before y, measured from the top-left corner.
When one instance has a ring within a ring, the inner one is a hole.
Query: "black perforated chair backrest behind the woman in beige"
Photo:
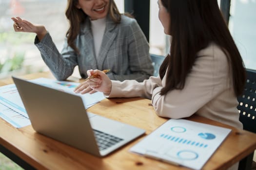
[[[244,92],[237,98],[237,109],[244,130],[256,133],[256,70],[246,69],[246,77]]]

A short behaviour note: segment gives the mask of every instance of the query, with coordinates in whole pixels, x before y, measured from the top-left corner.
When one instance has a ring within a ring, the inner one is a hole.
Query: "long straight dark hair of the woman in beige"
[[[217,0],[161,0],[170,14],[171,51],[159,69],[168,81],[161,95],[173,89],[183,89],[193,67],[197,52],[210,42],[216,43],[226,54],[233,74],[236,96],[246,80],[242,57],[219,10]],[[167,70],[168,68],[168,70]],[[166,72],[167,71],[167,72]]]

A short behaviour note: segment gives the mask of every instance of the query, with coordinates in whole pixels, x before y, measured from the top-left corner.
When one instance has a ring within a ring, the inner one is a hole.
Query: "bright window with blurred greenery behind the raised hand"
[[[34,33],[16,33],[11,17],[44,25],[58,49],[67,31],[66,0],[0,1],[0,78],[48,69],[34,45]],[[16,70],[16,71],[15,71]],[[10,73],[11,71],[11,73]]]

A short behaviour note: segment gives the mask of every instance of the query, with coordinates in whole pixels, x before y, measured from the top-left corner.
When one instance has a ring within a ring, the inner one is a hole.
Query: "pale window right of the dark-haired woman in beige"
[[[256,0],[231,0],[229,29],[246,68],[256,69]]]

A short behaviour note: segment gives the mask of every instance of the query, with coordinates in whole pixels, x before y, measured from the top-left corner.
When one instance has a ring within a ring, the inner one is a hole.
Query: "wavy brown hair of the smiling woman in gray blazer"
[[[83,23],[87,15],[76,7],[78,0],[68,0],[66,8],[66,17],[69,20],[69,29],[66,33],[68,45],[79,53],[79,49],[76,47],[74,41],[80,32],[80,24]],[[109,16],[115,23],[120,23],[121,14],[118,11],[117,5],[114,0],[109,0]]]

